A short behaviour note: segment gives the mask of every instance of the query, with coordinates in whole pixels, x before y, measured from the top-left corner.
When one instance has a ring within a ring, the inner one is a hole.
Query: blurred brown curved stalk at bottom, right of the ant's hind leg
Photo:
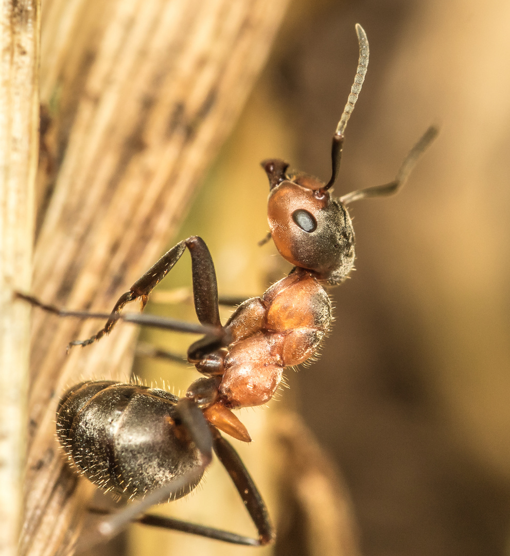
[[[329,455],[293,411],[275,411],[271,431],[284,508],[276,553],[359,556],[351,498]]]

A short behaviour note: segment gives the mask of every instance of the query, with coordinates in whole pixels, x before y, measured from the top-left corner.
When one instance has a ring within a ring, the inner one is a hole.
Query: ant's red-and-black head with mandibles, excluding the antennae
[[[269,178],[268,221],[284,259],[339,284],[354,265],[354,230],[343,204],[326,185],[304,173],[287,176],[283,160],[265,160]]]

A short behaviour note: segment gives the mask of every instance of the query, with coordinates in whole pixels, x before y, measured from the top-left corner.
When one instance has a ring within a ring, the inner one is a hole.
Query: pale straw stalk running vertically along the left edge
[[[26,438],[29,311],[38,152],[39,3],[0,10],[0,554],[17,553]]]

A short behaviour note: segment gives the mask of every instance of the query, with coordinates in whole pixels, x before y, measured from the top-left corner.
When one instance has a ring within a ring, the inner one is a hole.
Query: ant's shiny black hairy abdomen
[[[177,401],[147,386],[84,382],[62,397],[58,438],[92,483],[123,497],[144,495],[201,464],[181,425]],[[188,494],[200,479],[173,498]]]

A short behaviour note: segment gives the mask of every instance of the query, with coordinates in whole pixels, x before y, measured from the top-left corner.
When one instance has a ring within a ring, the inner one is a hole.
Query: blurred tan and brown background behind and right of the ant
[[[503,556],[510,554],[508,2],[293,0],[170,245],[202,236],[221,294],[259,295],[288,271],[272,245],[257,246],[268,229],[259,162],[286,158],[329,177],[331,136],[356,71],[355,23],[367,32],[371,57],[336,194],[391,181],[431,123],[441,134],[397,197],[353,205],[356,272],[331,291],[336,321],[322,356],[288,371],[290,390],[269,410],[240,415],[256,439],[240,452],[280,523],[287,509],[278,509],[277,455],[266,439],[274,411],[297,409],[343,475],[363,554]],[[162,289],[189,286],[188,263],[166,282]],[[193,317],[192,307],[172,309],[157,296],[148,309]],[[178,351],[189,343],[146,331],[142,339]],[[176,391],[196,376],[162,363],[149,368],[141,358],[134,371]],[[228,526],[249,527],[222,474],[211,470],[202,489],[217,489],[217,504],[204,506],[199,492],[171,511],[207,520],[223,513],[225,495],[241,516]],[[299,544],[299,524],[294,544],[264,553],[311,554]],[[143,536],[132,535],[131,554],[143,547],[206,554],[212,544],[134,529]],[[258,550],[215,546],[222,554]]]

